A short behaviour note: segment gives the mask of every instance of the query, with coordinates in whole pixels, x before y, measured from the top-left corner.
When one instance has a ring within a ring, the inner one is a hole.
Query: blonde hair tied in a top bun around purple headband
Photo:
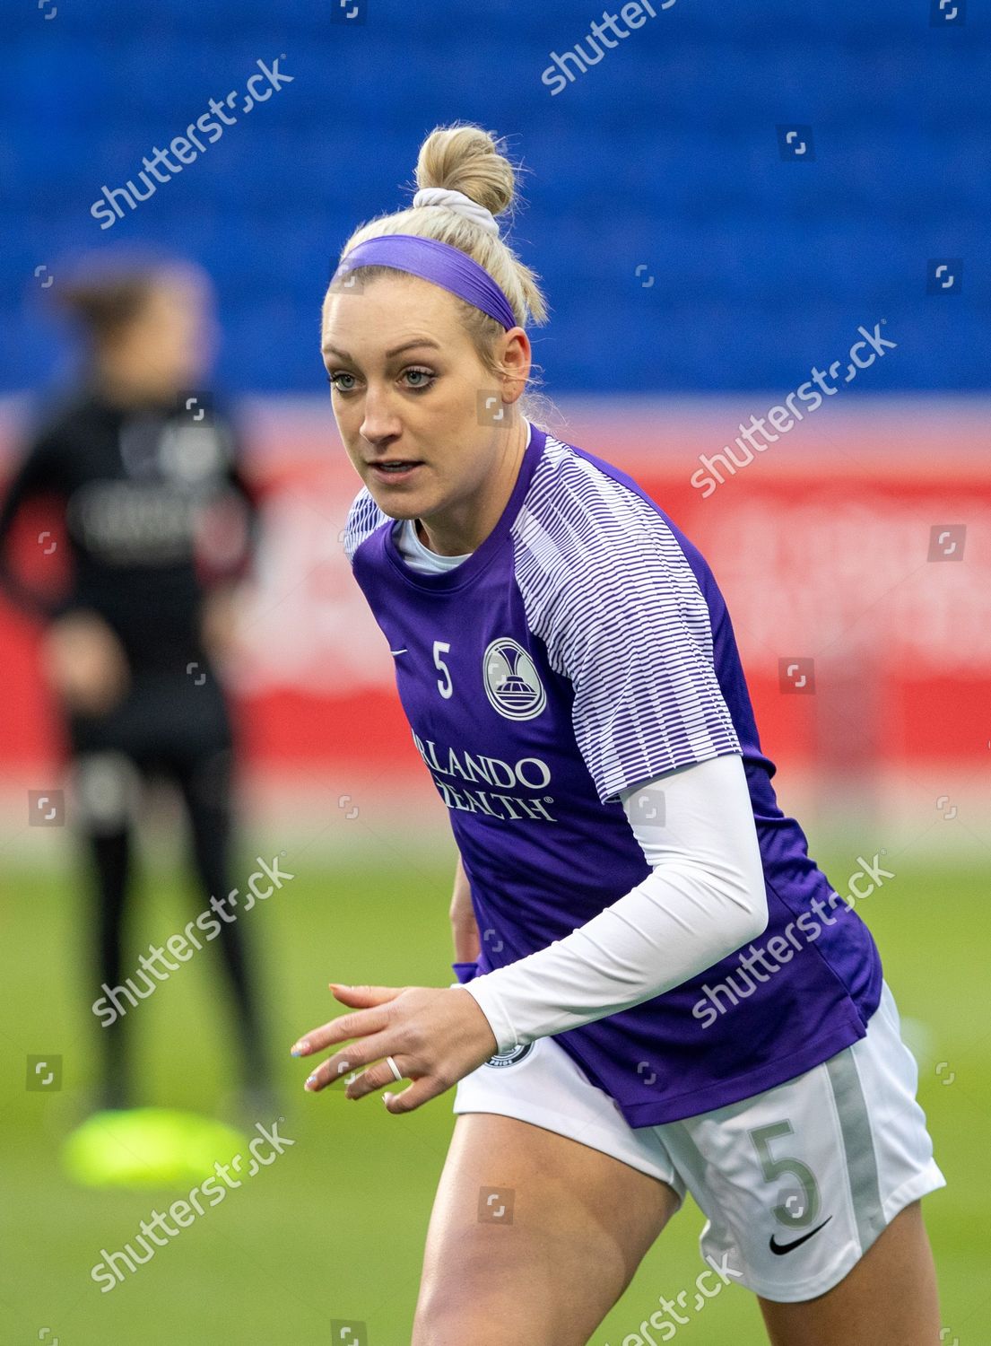
[[[415,186],[463,191],[493,215],[510,210],[512,218],[511,207],[519,201],[516,178],[520,172],[522,166],[510,162],[506,141],[495,132],[483,131],[472,122],[453,122],[436,127],[420,147]],[[547,304],[537,283],[538,273],[519,260],[502,236],[496,237],[459,211],[448,206],[407,206],[393,214],[376,215],[351,234],[339,260],[343,261],[358,244],[386,234],[415,234],[460,248],[503,289],[520,327],[547,322]],[[391,268],[381,265],[356,267],[355,273],[364,280],[394,275]],[[484,367],[493,377],[508,373],[495,358],[495,343],[504,335],[502,323],[460,296],[452,293],[450,297]],[[527,388],[542,382],[532,367],[539,366],[531,366]],[[546,402],[542,396],[524,392],[519,401],[522,415],[534,421],[531,412],[537,413],[542,402]]]

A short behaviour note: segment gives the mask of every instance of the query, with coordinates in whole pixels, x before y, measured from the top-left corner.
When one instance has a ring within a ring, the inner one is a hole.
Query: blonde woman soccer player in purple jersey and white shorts
[[[437,128],[417,183],[348,240],[323,354],[346,549],[450,810],[459,984],[333,984],[352,1012],[292,1049],[336,1047],[311,1090],[413,1081],[393,1113],[457,1085],[414,1346],[588,1342],[686,1191],[709,1269],[627,1346],[731,1281],[775,1346],[932,1346],[916,1063],[776,804],[713,573],[522,415],[546,311],[502,143]]]

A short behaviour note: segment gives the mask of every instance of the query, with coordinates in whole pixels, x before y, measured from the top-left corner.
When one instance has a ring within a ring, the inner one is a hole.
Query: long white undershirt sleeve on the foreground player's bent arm
[[[500,1051],[629,1010],[766,927],[738,752],[668,771],[620,798],[653,872],[565,938],[461,985]]]

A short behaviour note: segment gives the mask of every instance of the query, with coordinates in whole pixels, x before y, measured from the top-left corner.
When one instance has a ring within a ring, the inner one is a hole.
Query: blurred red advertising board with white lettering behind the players
[[[987,408],[827,406],[748,462],[734,436],[760,405],[586,402],[549,428],[628,471],[701,548],[779,765],[975,763],[991,743]],[[359,481],[331,412],[324,402],[242,411],[265,518],[242,653],[229,669],[246,762],[422,771],[386,642],[343,553]],[[9,466],[16,421],[4,424]],[[51,546],[34,536],[43,522],[30,526],[34,553]],[[54,537],[58,522],[44,526]],[[36,631],[5,603],[0,643],[0,769],[51,759]]]

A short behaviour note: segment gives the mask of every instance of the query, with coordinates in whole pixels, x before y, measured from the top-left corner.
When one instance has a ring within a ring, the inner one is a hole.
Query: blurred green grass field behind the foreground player
[[[109,1294],[90,1279],[101,1248],[122,1248],[153,1207],[164,1209],[183,1191],[89,1191],[61,1176],[61,1141],[90,1082],[100,1031],[82,980],[86,898],[66,872],[5,872],[3,1346],[56,1339],[61,1346],[294,1346],[331,1341],[333,1319],[367,1324],[368,1346],[409,1342],[432,1197],[453,1127],[452,1096],[407,1117],[389,1116],[375,1098],[346,1102],[333,1090],[309,1097],[305,1065],[288,1049],[303,1030],[332,1016],[331,979],[450,980],[448,851],[436,863],[403,868],[374,859],[332,868],[307,855],[293,863],[289,852],[293,882],[243,919],[264,956],[270,1044],[285,1085],[280,1131],[296,1144]],[[835,857],[835,871],[830,856],[819,859],[827,874],[848,872],[846,856]],[[858,909],[878,938],[902,1019],[925,1030],[920,1098],[949,1186],[924,1205],[948,1346],[955,1339],[991,1343],[987,899],[987,868],[905,867]],[[182,876],[147,874],[134,958],[182,930],[200,905]],[[233,1026],[226,1001],[218,1008],[212,992],[211,953],[196,954],[133,1011],[149,1102],[210,1110],[234,1085]],[[26,1090],[28,1054],[63,1057],[59,1093]],[[659,1295],[672,1298],[694,1281],[702,1269],[701,1224],[686,1205],[594,1346],[621,1346]],[[678,1339],[698,1346],[765,1341],[756,1302],[734,1287],[679,1329]]]

